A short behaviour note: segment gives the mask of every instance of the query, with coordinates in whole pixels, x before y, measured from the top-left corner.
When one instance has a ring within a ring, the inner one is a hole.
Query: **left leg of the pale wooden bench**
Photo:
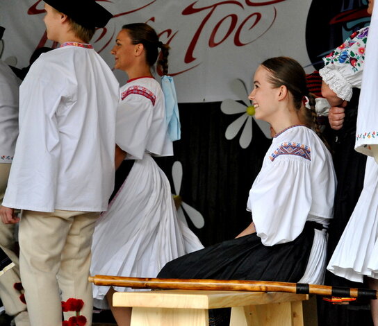
[[[131,326],[208,326],[208,310],[133,307]]]

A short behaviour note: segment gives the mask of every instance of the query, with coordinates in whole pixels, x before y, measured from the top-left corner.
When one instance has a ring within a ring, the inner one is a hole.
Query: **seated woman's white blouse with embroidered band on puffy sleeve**
[[[333,217],[336,175],[331,154],[313,130],[290,127],[272,139],[249,191],[258,237],[265,246],[296,239],[306,221]]]

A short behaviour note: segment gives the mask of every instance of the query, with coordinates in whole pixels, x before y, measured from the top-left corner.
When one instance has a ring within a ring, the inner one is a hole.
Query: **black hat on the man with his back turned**
[[[104,27],[113,17],[94,0],[44,0],[44,2],[86,28]]]

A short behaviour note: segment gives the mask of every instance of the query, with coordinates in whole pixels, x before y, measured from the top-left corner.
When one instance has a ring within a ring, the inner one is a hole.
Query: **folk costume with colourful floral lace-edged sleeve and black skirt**
[[[345,107],[345,123],[343,128],[336,132],[337,138],[334,146],[334,165],[338,176],[338,189],[335,197],[334,221],[329,230],[329,257],[332,257],[331,260],[334,259],[336,247],[363,189],[366,157],[354,151],[354,144],[357,108],[358,110],[361,108],[359,98],[368,35],[370,35],[369,27],[352,33],[343,44],[323,58],[324,68],[320,69],[324,82],[339,98],[349,101]],[[334,263],[330,262],[330,264]],[[338,273],[336,275],[342,276]],[[338,279],[336,276],[329,275],[327,278],[329,278],[327,282],[332,284],[357,286],[357,284]],[[356,281],[356,279],[349,280]]]

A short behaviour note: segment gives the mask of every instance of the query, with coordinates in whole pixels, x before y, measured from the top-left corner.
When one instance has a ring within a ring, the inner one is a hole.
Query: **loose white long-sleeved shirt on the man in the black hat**
[[[106,210],[118,99],[113,72],[90,44],[40,55],[20,87],[19,137],[3,205]]]

